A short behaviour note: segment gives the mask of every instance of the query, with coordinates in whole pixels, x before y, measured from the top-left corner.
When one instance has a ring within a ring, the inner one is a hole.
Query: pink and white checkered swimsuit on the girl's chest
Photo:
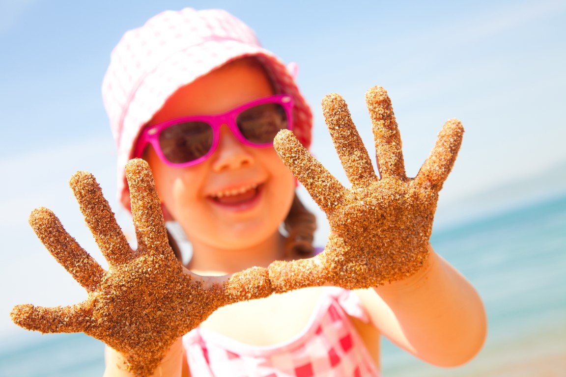
[[[191,375],[379,377],[379,370],[349,316],[368,322],[353,292],[328,287],[306,328],[285,343],[251,346],[205,328],[195,328],[183,336]]]

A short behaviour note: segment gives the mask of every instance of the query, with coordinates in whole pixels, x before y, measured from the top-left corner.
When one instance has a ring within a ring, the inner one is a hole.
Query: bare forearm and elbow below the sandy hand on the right
[[[410,278],[375,288],[372,320],[389,339],[440,366],[473,357],[486,335],[486,315],[474,287],[430,248]]]

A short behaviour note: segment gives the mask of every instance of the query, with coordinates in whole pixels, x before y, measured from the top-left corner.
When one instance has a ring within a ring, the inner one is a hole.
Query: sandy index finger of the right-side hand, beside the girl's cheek
[[[301,145],[293,132],[277,133],[273,146],[281,160],[305,186],[312,199],[327,212],[342,204],[346,189],[324,166]]]

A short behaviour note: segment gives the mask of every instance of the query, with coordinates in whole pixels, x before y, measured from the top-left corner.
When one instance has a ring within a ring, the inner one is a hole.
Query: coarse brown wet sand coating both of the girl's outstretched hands
[[[94,177],[76,173],[71,188],[109,270],[68,235],[50,210],[34,210],[32,228],[88,297],[67,307],[18,305],[12,320],[41,332],[85,332],[120,352],[133,374],[147,376],[178,337],[223,305],[314,285],[375,287],[414,274],[427,258],[438,192],[464,129],[458,120],[449,120],[417,176],[408,178],[387,92],[374,87],[366,102],[380,178],[337,94],[323,99],[323,112],[351,188],[316,161],[292,132],[281,131],[275,140],[281,159],[327,214],[331,235],[317,257],[276,261],[267,269],[253,267],[217,278],[192,274],[170,249],[149,166],[135,159],[128,162],[126,177],[138,249],[128,245]]]

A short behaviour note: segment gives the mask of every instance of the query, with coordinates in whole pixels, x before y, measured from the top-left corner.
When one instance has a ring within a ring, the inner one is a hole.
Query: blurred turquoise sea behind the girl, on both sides
[[[435,229],[431,244],[478,289],[488,317],[481,352],[427,365],[383,340],[383,376],[566,376],[566,193]],[[6,339],[0,377],[101,376],[104,345],[83,334]]]

